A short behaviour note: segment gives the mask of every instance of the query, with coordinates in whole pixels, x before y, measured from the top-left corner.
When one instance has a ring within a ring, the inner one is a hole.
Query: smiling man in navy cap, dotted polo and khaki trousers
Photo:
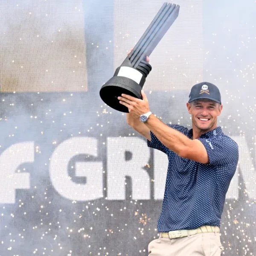
[[[163,206],[157,221],[159,239],[148,244],[149,256],[220,256],[220,222],[230,181],[236,172],[238,145],[217,127],[221,94],[214,84],[195,84],[186,106],[192,129],[164,124],[143,99],[122,94],[127,122],[148,146],[169,159]]]

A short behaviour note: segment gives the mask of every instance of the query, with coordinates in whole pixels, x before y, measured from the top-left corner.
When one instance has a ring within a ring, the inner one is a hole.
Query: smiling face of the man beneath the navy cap
[[[201,131],[210,131],[216,128],[217,116],[221,114],[222,105],[209,99],[194,100],[187,103],[192,116],[192,123]]]

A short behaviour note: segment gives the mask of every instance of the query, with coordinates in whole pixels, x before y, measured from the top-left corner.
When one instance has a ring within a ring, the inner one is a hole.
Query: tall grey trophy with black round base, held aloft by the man
[[[108,106],[117,111],[129,113],[128,108],[120,104],[117,97],[125,93],[142,99],[140,91],[146,77],[152,70],[151,65],[145,61],[145,58],[150,56],[167,30],[172,26],[179,15],[179,10],[179,5],[164,3],[131,53],[116,69],[114,76],[103,84],[99,95]]]

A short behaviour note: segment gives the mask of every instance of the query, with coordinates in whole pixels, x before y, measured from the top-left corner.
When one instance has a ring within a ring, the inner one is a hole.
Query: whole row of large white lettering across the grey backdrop
[[[244,137],[232,137],[239,145],[239,163],[236,174],[231,180],[226,198],[239,197],[240,178],[244,180],[248,198],[256,198],[256,172],[250,148]],[[256,137],[255,137],[256,139]],[[49,176],[58,193],[70,200],[89,201],[103,197],[103,164],[101,161],[76,161],[74,175],[86,177],[85,183],[77,183],[69,175],[70,161],[76,155],[98,157],[97,139],[90,137],[73,137],[62,142],[55,151],[49,164]],[[111,137],[107,145],[107,198],[108,200],[125,200],[126,178],[131,178],[131,199],[150,200],[151,189],[154,199],[162,200],[166,183],[168,158],[161,151],[153,150],[154,187],[147,169],[150,149],[145,140],[133,138]],[[0,203],[14,204],[16,189],[30,188],[30,174],[20,172],[23,163],[34,162],[34,143],[17,143],[7,148],[0,155]]]

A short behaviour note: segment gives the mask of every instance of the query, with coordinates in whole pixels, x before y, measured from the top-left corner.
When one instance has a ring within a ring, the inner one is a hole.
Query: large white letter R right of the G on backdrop
[[[125,160],[125,152],[131,158]],[[145,140],[108,139],[108,200],[125,200],[125,177],[132,179],[132,199],[150,199],[150,177],[145,168],[150,156]]]

